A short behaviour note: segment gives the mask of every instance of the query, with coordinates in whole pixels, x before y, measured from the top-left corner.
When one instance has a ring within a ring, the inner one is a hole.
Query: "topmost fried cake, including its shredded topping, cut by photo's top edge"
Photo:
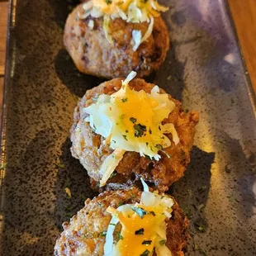
[[[135,70],[145,77],[159,69],[169,48],[168,29],[158,12],[166,9],[154,0],[149,2],[157,4],[156,10],[143,0],[137,1],[140,7],[136,1],[118,7],[116,2],[91,0],[74,8],[65,24],[64,45],[82,73],[117,78]],[[143,17],[130,17],[141,12]]]

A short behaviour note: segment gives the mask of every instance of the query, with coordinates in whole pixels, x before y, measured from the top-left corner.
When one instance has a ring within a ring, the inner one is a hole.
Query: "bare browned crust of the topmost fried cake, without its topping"
[[[128,23],[121,18],[110,22],[109,34],[114,43],[108,42],[102,28],[102,18],[88,17],[80,20],[83,13],[80,4],[70,13],[64,29],[64,45],[74,64],[82,73],[103,78],[126,77],[131,70],[138,77],[145,77],[164,62],[169,48],[168,29],[162,17],[154,18],[154,29],[149,39],[133,51],[130,40],[133,30],[145,34],[149,23]],[[93,21],[93,28],[88,22]]]

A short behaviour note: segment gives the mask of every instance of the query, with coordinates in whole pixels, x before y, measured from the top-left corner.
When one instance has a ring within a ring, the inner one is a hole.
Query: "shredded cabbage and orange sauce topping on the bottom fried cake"
[[[140,204],[127,204],[117,209],[108,207],[113,217],[107,230],[104,255],[152,255],[154,249],[158,256],[172,255],[165,246],[165,219],[171,217],[172,206],[173,200],[169,197],[157,192],[142,192]],[[118,222],[122,228],[115,245],[113,233]]]

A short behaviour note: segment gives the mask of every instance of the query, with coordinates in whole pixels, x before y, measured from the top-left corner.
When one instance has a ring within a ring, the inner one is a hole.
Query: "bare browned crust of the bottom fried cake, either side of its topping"
[[[140,194],[137,188],[132,187],[127,191],[103,192],[92,201],[85,201],[83,209],[70,222],[63,224],[64,231],[55,244],[55,256],[74,256],[78,255],[78,251],[83,252],[79,255],[102,256],[105,243],[102,232],[107,230],[111,220],[111,215],[106,211],[107,206],[116,208],[121,204],[139,202]],[[188,220],[178,203],[174,199],[173,201],[173,216],[166,220],[166,245],[173,256],[182,256],[187,245]]]

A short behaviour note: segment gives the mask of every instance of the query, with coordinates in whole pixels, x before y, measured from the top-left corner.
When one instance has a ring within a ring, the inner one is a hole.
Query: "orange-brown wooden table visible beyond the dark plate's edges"
[[[230,10],[235,20],[244,59],[256,92],[256,0],[227,1],[230,3]],[[6,31],[7,2],[0,0],[0,92],[2,92],[1,86],[4,76]]]

